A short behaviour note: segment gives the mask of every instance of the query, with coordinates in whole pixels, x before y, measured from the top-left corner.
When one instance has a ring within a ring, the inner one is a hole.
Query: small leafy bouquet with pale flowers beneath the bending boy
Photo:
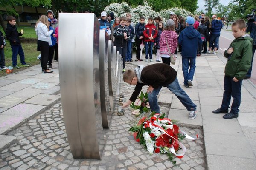
[[[132,102],[130,107],[133,109],[132,114],[140,115],[143,112],[150,111],[150,106],[148,102],[148,94],[141,92],[140,96]]]

